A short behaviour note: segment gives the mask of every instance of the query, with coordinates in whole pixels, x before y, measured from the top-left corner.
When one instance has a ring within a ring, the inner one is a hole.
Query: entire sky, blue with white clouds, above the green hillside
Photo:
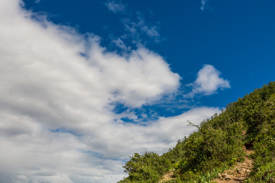
[[[274,81],[274,1],[0,2],[0,177],[117,182]]]

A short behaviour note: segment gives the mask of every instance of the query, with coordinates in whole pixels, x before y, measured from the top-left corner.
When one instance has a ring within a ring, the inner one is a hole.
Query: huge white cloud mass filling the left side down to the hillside
[[[117,103],[150,104],[174,93],[180,76],[143,46],[108,52],[97,36],[34,20],[20,5],[0,1],[1,181],[116,182],[129,155],[163,153],[194,130],[186,120],[198,124],[219,112],[201,107],[125,123],[136,116],[115,113]]]

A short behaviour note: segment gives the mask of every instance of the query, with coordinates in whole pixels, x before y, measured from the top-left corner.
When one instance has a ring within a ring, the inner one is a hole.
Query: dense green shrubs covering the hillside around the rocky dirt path
[[[123,166],[124,182],[210,182],[231,165],[244,160],[243,146],[254,149],[254,168],[245,182],[275,182],[275,82],[269,82],[242,99],[230,103],[220,114],[202,121],[197,131],[178,140],[161,156],[135,153]]]

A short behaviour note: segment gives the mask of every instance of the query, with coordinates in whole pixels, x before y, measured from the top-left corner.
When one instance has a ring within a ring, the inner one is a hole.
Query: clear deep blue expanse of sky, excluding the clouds
[[[119,1],[113,12],[106,1],[24,1],[26,8],[43,12],[54,23],[93,33],[109,50],[113,38],[125,34],[122,19],[156,27],[157,40],[140,35],[146,47],[163,56],[171,70],[191,83],[204,64],[213,65],[230,81],[231,89],[200,100],[202,105],[225,106],[274,79],[273,1]],[[199,7],[199,8],[198,8]],[[127,46],[134,38],[123,40]],[[253,82],[249,82],[253,81]],[[226,97],[225,97],[226,96]]]

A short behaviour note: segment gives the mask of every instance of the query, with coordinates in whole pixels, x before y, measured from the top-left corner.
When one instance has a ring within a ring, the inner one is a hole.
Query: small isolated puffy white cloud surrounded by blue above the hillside
[[[187,85],[193,89],[185,97],[194,97],[196,94],[208,96],[214,94],[218,89],[230,88],[229,81],[220,75],[221,72],[214,66],[204,65],[198,72],[196,81]]]

